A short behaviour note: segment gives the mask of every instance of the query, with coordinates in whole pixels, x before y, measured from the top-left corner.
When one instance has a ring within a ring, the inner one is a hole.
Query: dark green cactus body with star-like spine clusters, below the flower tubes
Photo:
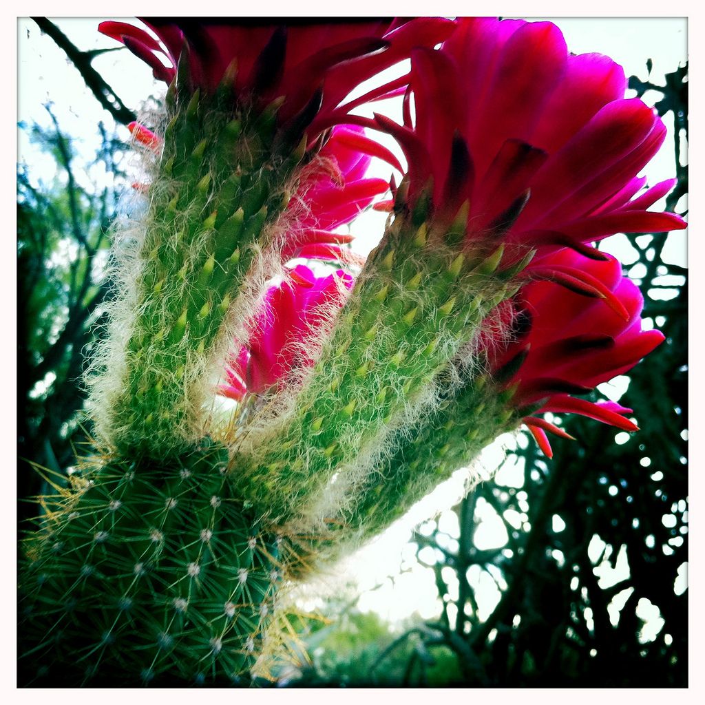
[[[281,582],[278,539],[206,445],[168,465],[107,462],[50,508],[20,584],[24,684],[247,678]]]

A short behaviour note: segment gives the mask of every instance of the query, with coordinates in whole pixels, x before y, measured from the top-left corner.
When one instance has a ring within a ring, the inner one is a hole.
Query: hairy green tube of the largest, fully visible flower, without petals
[[[502,248],[462,251],[398,218],[371,255],[293,414],[243,458],[238,489],[287,520],[386,446],[482,319],[515,290]],[[336,476],[338,474],[338,477]],[[343,474],[343,477],[340,475]],[[344,500],[343,500],[344,503]],[[335,508],[333,508],[335,509]]]

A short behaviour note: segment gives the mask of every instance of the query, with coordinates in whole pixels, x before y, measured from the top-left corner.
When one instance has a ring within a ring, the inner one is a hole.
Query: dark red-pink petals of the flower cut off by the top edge
[[[184,47],[192,88],[214,92],[228,69],[235,70],[234,97],[259,108],[286,97],[278,119],[282,129],[309,127],[314,138],[321,125],[345,120],[341,107],[348,94],[379,71],[407,59],[415,47],[433,47],[453,32],[450,20],[261,20],[241,18],[149,18],[159,37],[123,22],[103,22],[99,30],[123,42],[145,61],[155,78],[176,76]],[[161,43],[160,43],[161,42]],[[400,90],[393,82],[374,97]],[[372,97],[372,96],[371,96]],[[355,102],[357,104],[357,102]],[[353,103],[350,103],[353,106]],[[284,124],[286,123],[286,124]]]

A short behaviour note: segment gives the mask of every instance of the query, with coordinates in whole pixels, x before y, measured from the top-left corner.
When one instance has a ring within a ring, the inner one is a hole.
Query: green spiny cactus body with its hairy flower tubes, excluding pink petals
[[[123,348],[109,340],[120,379],[102,384],[116,376],[108,365],[95,387],[111,450],[47,500],[27,541],[25,682],[221,683],[265,672],[279,585],[317,562],[309,549],[325,553],[326,517],[368,537],[490,437],[452,429],[437,408],[439,379],[513,295],[530,253],[507,266],[501,232],[468,245],[467,208],[440,225],[427,200],[405,203],[402,186],[317,364],[282,390],[290,406],[263,425],[255,404],[233,437],[209,438],[209,372],[232,320],[252,313],[251,288],[266,278],[257,258],[281,246],[277,220],[305,142],[277,133],[281,101],[233,106],[227,76],[201,96],[182,64],[121,321],[128,335]],[[478,403],[469,389],[467,408]],[[416,443],[405,431],[414,423]],[[511,424],[502,417],[488,434]],[[468,442],[442,460],[458,433]]]

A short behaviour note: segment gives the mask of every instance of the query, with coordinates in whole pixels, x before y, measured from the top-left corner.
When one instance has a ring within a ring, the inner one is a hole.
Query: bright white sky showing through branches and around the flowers
[[[56,20],[56,23],[81,49],[115,47],[115,42],[97,33],[96,27],[100,20],[101,18],[64,18]],[[651,58],[651,81],[661,84],[664,73],[674,71],[679,64],[686,61],[685,19],[561,18],[553,21],[563,30],[572,52],[580,54],[599,51],[608,54],[625,67],[627,76],[636,74],[646,80],[646,59]],[[51,39],[40,35],[37,25],[31,20],[18,20],[18,56],[18,120],[25,123],[37,121],[48,125],[49,116],[43,105],[51,102],[61,128],[78,140],[76,147],[86,159],[92,157],[94,149],[99,145],[94,126],[98,121],[111,125],[109,114],[102,110],[87,91],[82,78],[68,63],[63,52]],[[99,56],[94,62],[94,68],[104,75],[116,94],[132,108],[137,108],[149,94],[158,94],[162,90],[161,84],[152,79],[149,69],[127,51],[115,51]],[[645,99],[647,102],[654,102],[658,96],[647,94]],[[384,111],[392,117],[400,118],[398,104],[375,104],[374,111]],[[667,126],[671,127],[668,121]],[[125,128],[119,128],[119,133],[127,140],[128,131]],[[672,139],[673,135],[669,135],[661,154],[646,169],[649,183],[673,176]],[[20,161],[30,164],[35,178],[49,180],[53,176],[52,160],[40,156],[37,150],[29,145],[22,132],[19,137],[19,156]],[[389,176],[388,167],[378,165],[375,169],[376,175]],[[93,173],[92,178],[106,180],[110,175]],[[370,212],[354,223],[352,231],[357,235],[356,247],[360,252],[369,252],[374,247],[384,226],[384,219],[384,214]],[[664,259],[685,265],[685,242],[683,233],[670,235]],[[628,249],[628,245],[626,247]],[[624,254],[625,243],[615,239],[615,248],[611,251],[618,256]],[[485,467],[496,467],[503,457],[501,443],[516,442],[516,439],[510,437],[501,439],[498,446],[486,450],[482,464]],[[525,439],[519,439],[518,442],[524,443]],[[503,472],[507,475],[505,479],[508,482],[517,482],[517,478],[520,482],[521,473],[517,468],[508,468]],[[336,572],[326,576],[324,587],[335,593],[341,590],[344,583],[357,583],[356,589],[362,591],[360,608],[373,609],[390,620],[402,620],[415,611],[419,611],[424,618],[436,614],[438,606],[432,572],[415,561],[414,549],[407,544],[407,540],[410,529],[417,522],[433,515],[439,508],[448,508],[458,501],[462,493],[462,482],[460,473],[445,486],[439,487],[433,496],[419,503],[383,537],[357,553]],[[450,534],[457,531],[457,527],[453,527],[452,513],[443,513],[441,522]],[[497,522],[497,517],[487,513],[478,529],[477,540],[484,541],[486,547],[502,545],[502,532]],[[399,575],[400,568],[405,568],[408,572]],[[391,580],[389,576],[397,577]],[[377,585],[381,587],[371,591]],[[480,592],[481,608],[489,611],[497,598],[494,582],[489,580]]]

